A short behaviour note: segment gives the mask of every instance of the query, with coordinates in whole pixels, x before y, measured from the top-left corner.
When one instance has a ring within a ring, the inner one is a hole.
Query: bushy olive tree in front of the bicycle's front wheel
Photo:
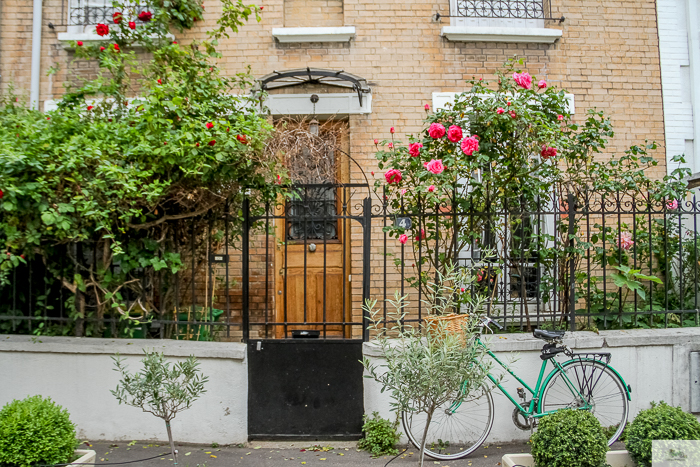
[[[448,329],[446,321],[440,319],[428,319],[428,325],[411,325],[406,321],[407,297],[398,291],[393,300],[387,300],[395,311],[388,313],[386,322],[381,311],[375,309],[376,300],[365,303],[374,342],[386,359],[385,364],[377,365],[365,357],[362,363],[369,373],[366,377],[381,384],[382,392],[390,391],[392,410],[425,417],[419,446],[421,466],[430,424],[438,408],[480,395],[490,368],[484,361],[487,348],[477,345],[474,339],[483,299],[464,292],[474,275],[452,266],[445,274],[437,275],[437,280],[429,284],[434,293],[424,303],[433,317],[469,310],[463,315],[460,330]]]

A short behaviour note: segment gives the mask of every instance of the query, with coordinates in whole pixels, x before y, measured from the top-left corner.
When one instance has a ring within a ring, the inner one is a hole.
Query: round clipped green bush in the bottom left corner
[[[68,412],[41,396],[14,400],[0,410],[0,466],[69,462],[77,446]]]

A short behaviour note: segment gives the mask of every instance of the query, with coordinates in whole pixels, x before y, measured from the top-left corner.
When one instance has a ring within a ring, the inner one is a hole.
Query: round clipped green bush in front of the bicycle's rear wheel
[[[601,467],[608,440],[587,410],[560,410],[543,417],[530,439],[537,467]]]

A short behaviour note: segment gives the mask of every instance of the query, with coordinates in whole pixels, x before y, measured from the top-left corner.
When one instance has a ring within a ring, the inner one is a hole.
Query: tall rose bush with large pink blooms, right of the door
[[[565,210],[569,195],[578,202],[588,192],[622,192],[640,201],[685,193],[684,169],[661,180],[647,175],[658,164],[647,152],[654,143],[633,146],[622,157],[597,158],[614,135],[609,119],[589,110],[574,121],[565,91],[544,80],[533,87],[536,79],[518,69],[521,65],[511,60],[495,83],[468,81],[468,90],[428,113],[425,129],[406,143],[391,134],[378,144],[380,170],[401,174],[389,184],[376,182],[380,199],[412,216],[414,232],[425,232],[415,235],[425,241],[409,245],[410,260],[395,260],[416,273],[409,279],[414,286],[425,284],[431,270],[456,262],[457,255],[476,256],[482,249],[494,250],[496,267],[519,277],[536,257],[545,276],[559,275],[559,284],[567,284],[569,262],[579,261],[588,245],[580,239],[571,244],[568,222],[535,235],[528,211]],[[575,234],[580,218],[572,221]],[[406,233],[394,225],[385,231],[395,238]],[[519,287],[525,297],[525,281]],[[539,287],[552,283],[543,280]],[[566,303],[566,287],[553,292]]]

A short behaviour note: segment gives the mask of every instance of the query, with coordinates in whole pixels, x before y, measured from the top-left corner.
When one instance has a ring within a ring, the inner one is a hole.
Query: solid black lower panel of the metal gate
[[[248,342],[250,439],[358,439],[362,341]]]

